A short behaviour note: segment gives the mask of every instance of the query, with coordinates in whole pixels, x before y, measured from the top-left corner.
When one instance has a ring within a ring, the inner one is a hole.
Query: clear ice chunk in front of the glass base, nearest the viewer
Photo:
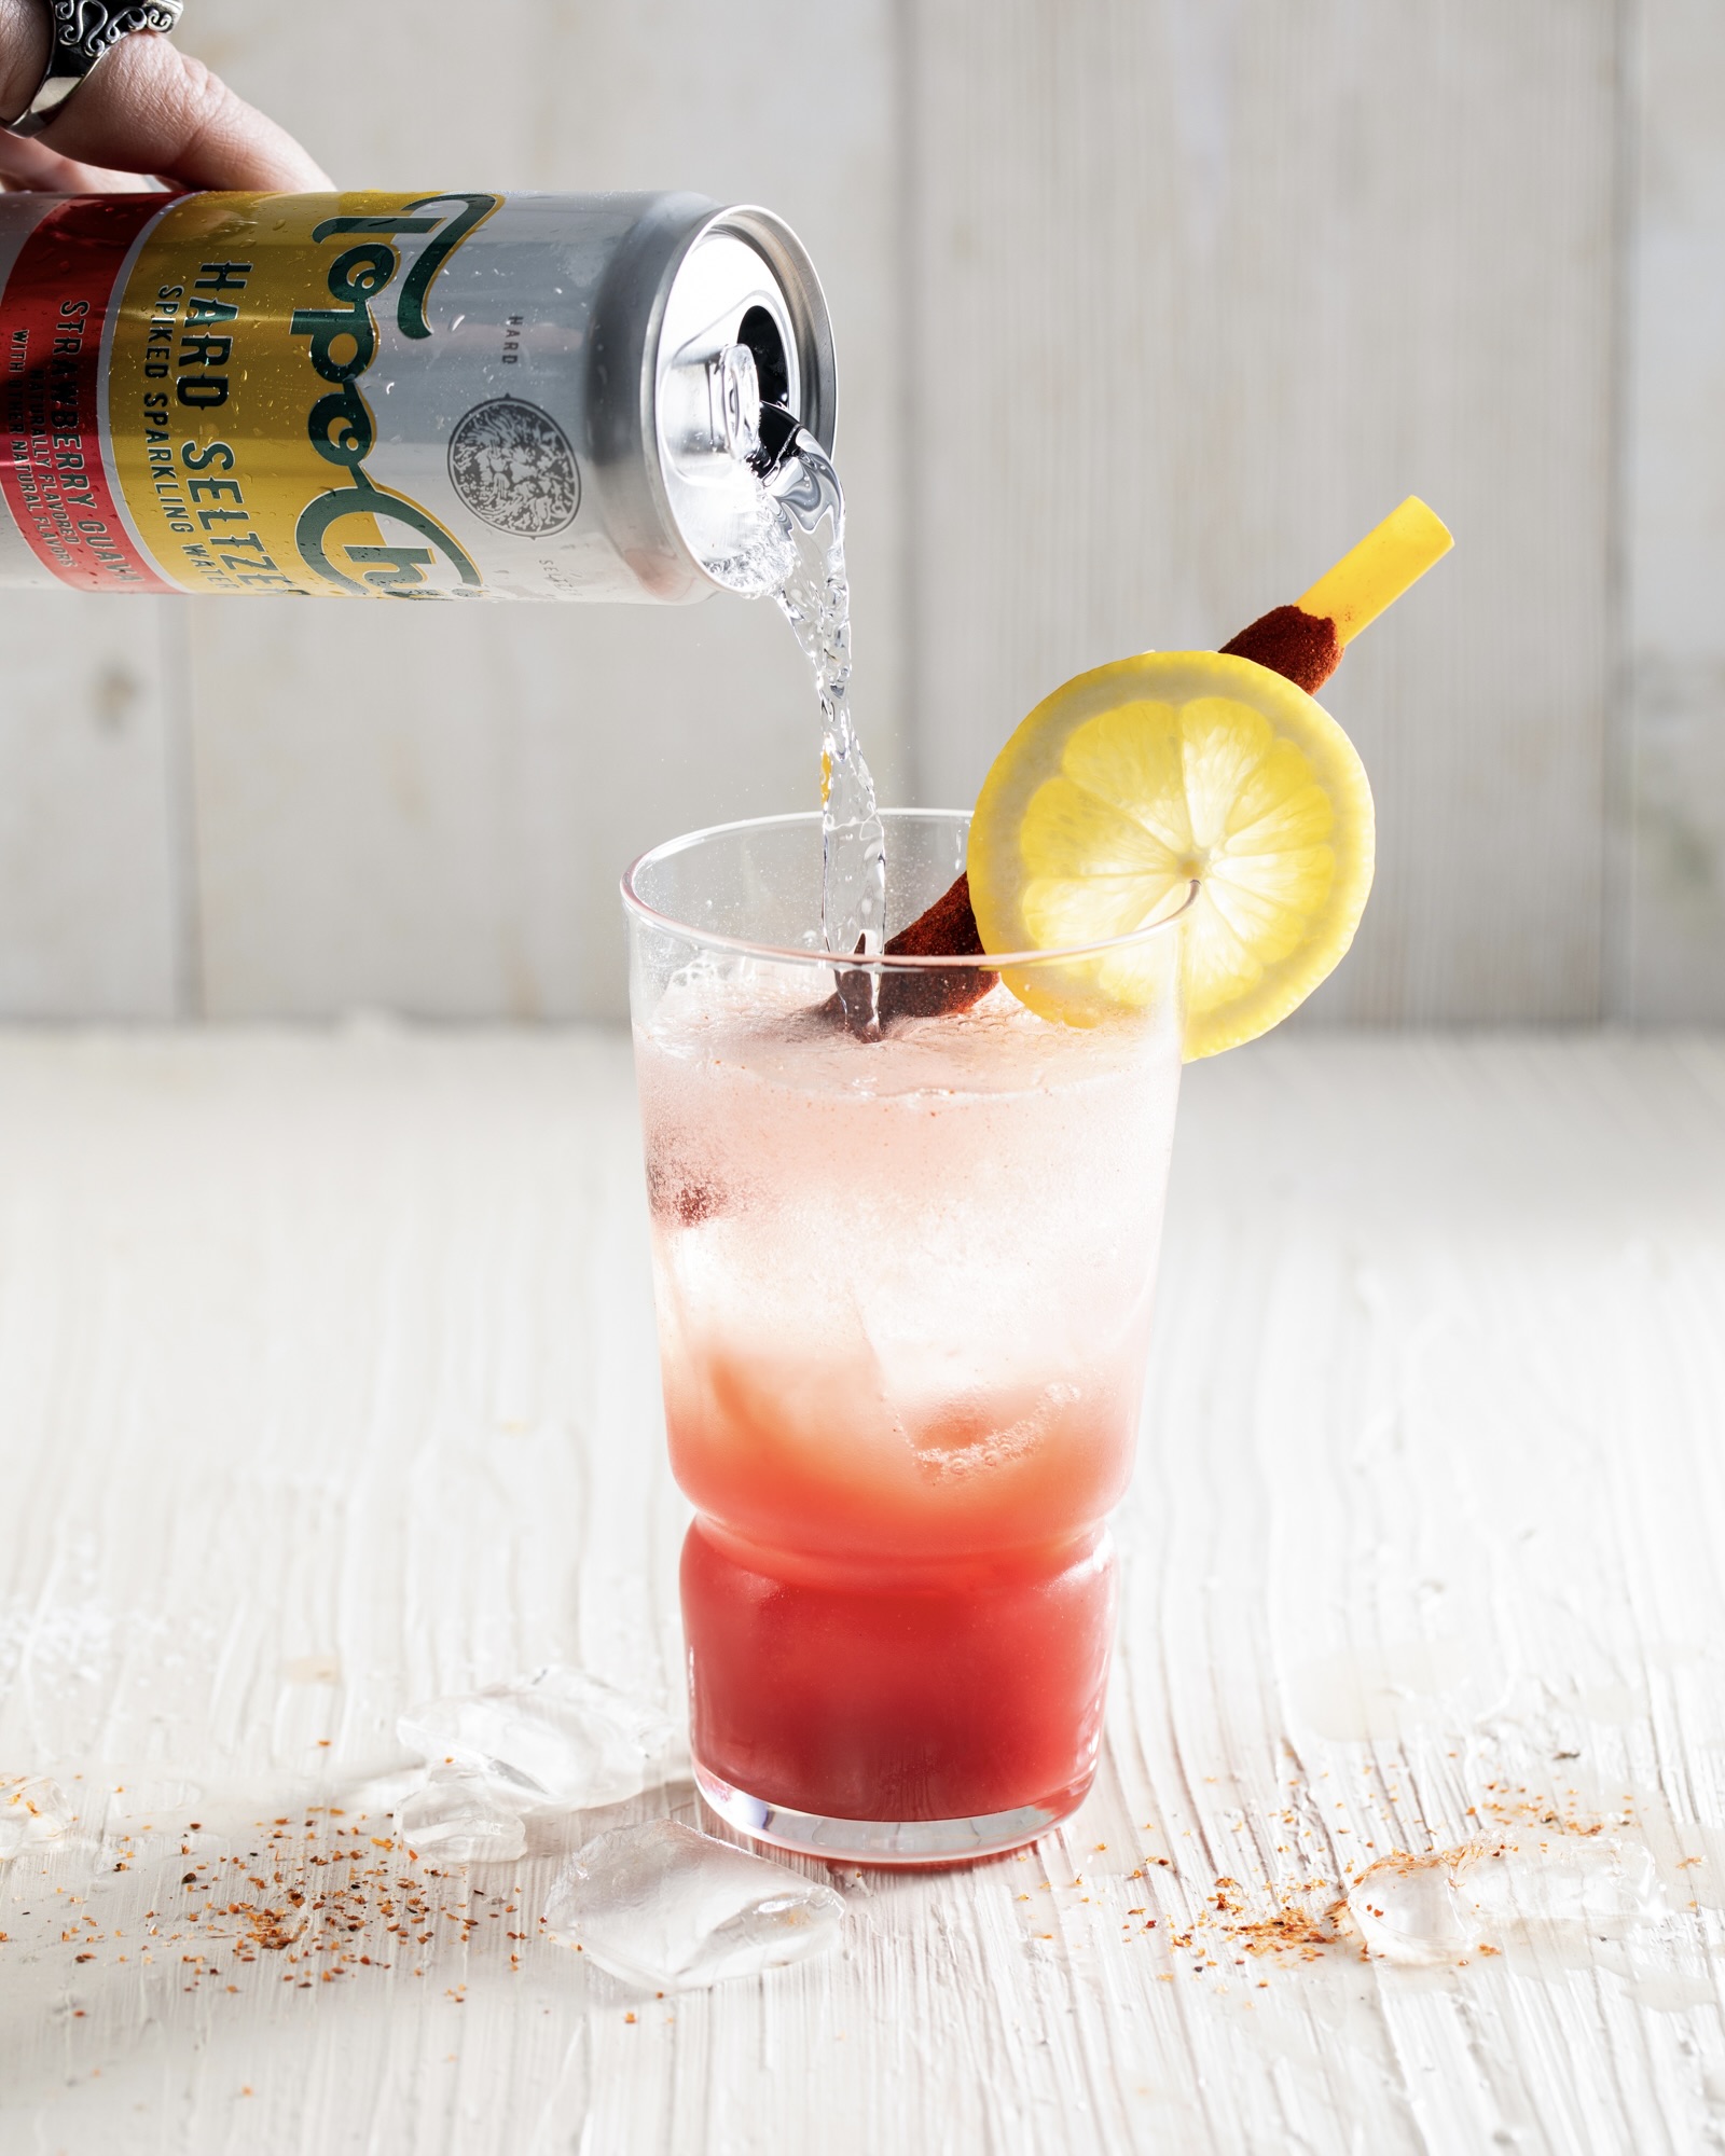
[[[690,1990],[837,1947],[845,1904],[787,1865],[677,1820],[619,1826],[578,1850],[546,1925],[630,1984]]]

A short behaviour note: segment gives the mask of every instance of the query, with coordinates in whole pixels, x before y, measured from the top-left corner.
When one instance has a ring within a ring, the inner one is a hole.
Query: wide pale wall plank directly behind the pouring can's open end
[[[599,9],[427,0],[367,93],[341,0],[209,0],[183,41],[343,185],[694,188],[806,241],[841,349],[858,711],[899,791],[899,464],[888,0]],[[826,82],[815,97],[811,86]],[[813,804],[819,716],[765,604],[201,606],[203,975],[213,1015],[384,1005],[617,1015],[617,875],[731,815]]]

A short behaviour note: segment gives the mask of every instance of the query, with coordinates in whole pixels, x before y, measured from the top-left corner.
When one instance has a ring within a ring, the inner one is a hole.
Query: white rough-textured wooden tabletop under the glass
[[[403,1703],[675,1695],[632,1117],[606,1035],[0,1044],[0,1772],[80,1805],[0,1867],[6,2156],[1725,2137],[1716,1039],[1190,1074],[1108,1755],[1031,1856],[845,1880],[843,1955],[658,2001],[530,1919],[673,1781],[420,1867],[408,1940],[354,1889],[341,1975],[246,1945],[252,1874],[401,1869]],[[1272,1882],[1529,1807],[1650,1852],[1654,1917],[1257,1951]]]

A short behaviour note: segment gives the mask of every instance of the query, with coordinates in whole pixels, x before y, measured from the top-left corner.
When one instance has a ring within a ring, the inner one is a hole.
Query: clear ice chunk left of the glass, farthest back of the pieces
[[[485,1774],[522,1809],[584,1809],[638,1796],[673,1725],[599,1677],[556,1664],[481,1692],[429,1699],[397,1723],[431,1766]]]

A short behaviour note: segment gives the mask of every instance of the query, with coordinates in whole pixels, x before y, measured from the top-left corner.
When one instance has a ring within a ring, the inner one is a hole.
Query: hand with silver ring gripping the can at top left
[[[24,110],[45,65],[43,0],[0,0],[0,112]],[[9,192],[138,192],[157,179],[175,192],[330,185],[293,136],[153,30],[123,37],[43,134],[0,132]]]

